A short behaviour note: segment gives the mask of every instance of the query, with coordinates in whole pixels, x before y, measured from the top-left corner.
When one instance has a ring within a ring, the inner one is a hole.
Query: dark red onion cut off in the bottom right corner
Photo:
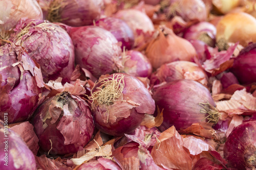
[[[228,166],[239,170],[256,167],[256,120],[235,127],[224,144],[224,157]]]

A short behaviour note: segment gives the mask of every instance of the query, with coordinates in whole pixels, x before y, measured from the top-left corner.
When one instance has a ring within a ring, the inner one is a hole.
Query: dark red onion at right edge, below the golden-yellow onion
[[[256,82],[256,43],[249,44],[234,58],[230,71],[241,84]]]

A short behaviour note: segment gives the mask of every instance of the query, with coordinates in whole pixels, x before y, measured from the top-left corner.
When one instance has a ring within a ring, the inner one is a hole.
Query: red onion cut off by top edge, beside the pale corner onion
[[[39,0],[44,19],[79,27],[100,17],[103,0]]]

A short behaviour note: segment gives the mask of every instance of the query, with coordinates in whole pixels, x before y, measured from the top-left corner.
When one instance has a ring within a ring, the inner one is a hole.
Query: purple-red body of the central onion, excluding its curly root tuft
[[[92,105],[92,114],[94,117],[95,127],[100,129],[101,132],[113,135],[121,136],[124,133],[129,134],[134,131],[142,122],[145,113],[153,114],[155,111],[155,102],[148,89],[135,77],[127,74],[113,74],[108,76],[113,78],[114,75],[124,75],[124,88],[121,97],[115,99],[108,109],[111,110],[109,117],[106,112],[107,106],[105,104],[99,104],[96,100]],[[92,94],[98,91],[97,87],[101,85],[101,82],[95,84],[92,89]],[[130,104],[130,101],[132,104]],[[135,105],[135,103],[139,105]],[[127,106],[128,105],[128,106]],[[122,114],[130,114],[127,117],[118,115],[122,111]],[[115,121],[111,122],[111,118],[117,117]]]

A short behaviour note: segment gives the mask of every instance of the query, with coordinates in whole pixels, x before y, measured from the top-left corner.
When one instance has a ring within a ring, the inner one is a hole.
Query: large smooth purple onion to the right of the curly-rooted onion
[[[176,80],[156,89],[153,99],[160,111],[163,109],[161,131],[172,127],[177,130],[186,129],[193,123],[208,121],[199,103],[215,106],[209,90],[201,83],[189,79]]]

